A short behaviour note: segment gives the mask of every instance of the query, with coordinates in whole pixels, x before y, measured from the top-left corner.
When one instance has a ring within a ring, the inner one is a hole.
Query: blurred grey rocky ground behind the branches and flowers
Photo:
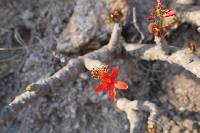
[[[177,14],[183,7],[195,7],[200,12],[197,0],[163,3],[177,9]],[[0,0],[0,109],[28,84],[51,76],[69,59],[106,45],[113,26],[107,17],[113,9],[124,13],[122,36],[126,42],[141,40],[133,25],[135,7],[137,24],[144,35],[142,43],[154,43],[147,16],[155,4],[156,0]],[[185,48],[188,42],[195,41],[199,46],[199,23],[178,16],[177,26],[166,36],[168,43]],[[110,64],[119,66],[119,79],[129,84],[127,91],[119,92],[120,97],[150,100],[163,110],[157,121],[158,133],[200,133],[200,79],[195,75],[175,64],[126,54]],[[81,73],[72,84],[39,98],[15,120],[1,124],[0,132],[129,132],[125,113],[117,111],[105,93],[96,94],[97,85],[90,72]],[[144,113],[142,133],[147,115]]]

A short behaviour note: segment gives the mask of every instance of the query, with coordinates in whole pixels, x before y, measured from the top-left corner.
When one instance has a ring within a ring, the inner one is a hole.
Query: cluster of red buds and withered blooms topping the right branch
[[[149,32],[154,36],[164,36],[171,28],[171,25],[163,26],[163,20],[166,17],[175,16],[176,12],[172,9],[162,9],[161,0],[157,0],[155,10],[148,16]]]

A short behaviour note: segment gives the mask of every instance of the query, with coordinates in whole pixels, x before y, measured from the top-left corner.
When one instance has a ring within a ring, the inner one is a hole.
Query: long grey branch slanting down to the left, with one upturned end
[[[65,67],[51,77],[28,85],[24,93],[15,97],[9,105],[2,109],[0,113],[0,122],[13,119],[20,110],[25,108],[27,104],[34,102],[38,97],[57,91],[57,89],[61,88],[61,85],[73,82],[81,72],[85,71],[85,58],[96,59],[102,62],[108,62],[113,59],[116,54],[119,54],[119,49],[121,49],[121,47],[118,46],[120,34],[121,27],[119,24],[115,24],[108,45],[84,56],[71,59]]]

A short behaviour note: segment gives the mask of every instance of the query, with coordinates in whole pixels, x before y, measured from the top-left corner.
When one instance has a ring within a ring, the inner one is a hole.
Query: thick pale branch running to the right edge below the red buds
[[[174,63],[182,66],[200,78],[200,59],[188,49],[178,49],[173,46],[168,46],[170,51],[166,54],[160,47],[155,44],[129,44],[125,46],[125,50],[133,56],[140,56],[146,60],[161,60],[167,61],[170,64]]]

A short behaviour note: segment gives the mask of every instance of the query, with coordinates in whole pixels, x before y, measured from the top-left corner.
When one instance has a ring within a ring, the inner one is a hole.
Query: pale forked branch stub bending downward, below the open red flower
[[[156,132],[156,119],[159,115],[159,111],[154,103],[149,101],[139,102],[137,100],[129,101],[126,98],[120,98],[117,100],[116,106],[119,110],[126,113],[130,123],[130,133],[133,131],[138,131],[138,123],[140,118],[136,111],[140,110],[150,113],[147,121],[148,133]]]

